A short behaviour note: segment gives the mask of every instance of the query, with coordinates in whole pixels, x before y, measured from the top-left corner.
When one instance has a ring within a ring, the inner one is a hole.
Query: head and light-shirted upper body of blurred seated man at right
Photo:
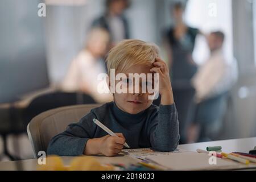
[[[228,92],[236,81],[233,65],[226,60],[222,51],[224,39],[225,35],[221,31],[208,36],[210,57],[192,79],[197,102]]]

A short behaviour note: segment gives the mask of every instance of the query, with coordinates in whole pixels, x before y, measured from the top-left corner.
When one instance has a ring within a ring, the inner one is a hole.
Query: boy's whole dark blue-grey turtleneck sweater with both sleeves
[[[131,148],[152,147],[157,151],[173,151],[179,144],[179,121],[175,104],[151,105],[138,114],[129,114],[108,102],[67,127],[49,142],[47,154],[60,156],[82,155],[90,138],[108,135],[93,123],[101,121],[114,133],[122,133]]]

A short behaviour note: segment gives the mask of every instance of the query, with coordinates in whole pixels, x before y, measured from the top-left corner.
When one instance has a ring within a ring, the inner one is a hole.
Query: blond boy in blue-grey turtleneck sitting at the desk
[[[179,122],[172,95],[169,71],[166,63],[159,58],[159,49],[154,44],[141,40],[123,40],[107,57],[108,75],[115,73],[159,74],[160,106],[152,105],[148,97],[151,93],[142,92],[142,85],[152,80],[122,80],[123,86],[139,86],[139,92],[113,93],[114,101],[92,109],[78,123],[53,137],[47,154],[77,156],[115,156],[121,152],[126,142],[131,148],[152,147],[158,151],[173,151],[179,144]],[[152,78],[154,80],[154,77]],[[117,81],[115,81],[117,83]],[[109,87],[112,90],[113,85]],[[93,123],[93,118],[117,133],[118,137],[106,132]]]

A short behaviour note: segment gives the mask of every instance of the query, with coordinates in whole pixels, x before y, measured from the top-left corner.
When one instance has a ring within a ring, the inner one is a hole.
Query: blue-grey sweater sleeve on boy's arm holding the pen
[[[96,118],[91,112],[78,123],[68,125],[67,129],[53,137],[47,148],[47,155],[78,156],[82,155],[88,139],[92,138],[96,126],[92,119]]]

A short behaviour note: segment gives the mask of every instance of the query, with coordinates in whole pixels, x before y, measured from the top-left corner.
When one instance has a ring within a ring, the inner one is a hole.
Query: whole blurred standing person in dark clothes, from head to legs
[[[187,129],[194,114],[195,89],[191,85],[191,78],[197,71],[197,65],[192,59],[192,52],[196,36],[200,33],[197,28],[185,24],[184,10],[185,5],[182,2],[172,3],[174,26],[168,28],[163,37],[171,70],[174,100],[179,113],[180,144],[187,143]]]

